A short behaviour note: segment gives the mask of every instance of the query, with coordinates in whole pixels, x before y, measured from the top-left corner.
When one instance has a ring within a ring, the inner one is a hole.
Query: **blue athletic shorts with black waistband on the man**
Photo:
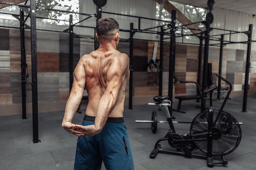
[[[85,115],[82,125],[94,124],[95,117]],[[134,170],[132,151],[123,117],[109,117],[95,136],[78,137],[74,170]]]

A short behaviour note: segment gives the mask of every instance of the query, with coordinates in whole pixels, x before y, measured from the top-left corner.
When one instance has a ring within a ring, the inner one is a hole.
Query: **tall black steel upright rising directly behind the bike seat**
[[[168,83],[168,96],[170,97],[171,106],[168,107],[170,115],[172,116],[173,110],[173,73],[174,73],[174,60],[175,60],[175,23],[176,11],[171,11],[171,30],[170,30],[170,58],[169,58],[169,83]]]

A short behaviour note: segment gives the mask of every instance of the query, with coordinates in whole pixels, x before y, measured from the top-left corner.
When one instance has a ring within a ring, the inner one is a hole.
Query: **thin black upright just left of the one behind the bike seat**
[[[164,60],[164,29],[161,26],[161,33],[160,33],[160,63],[159,63],[159,95],[162,96],[163,93],[163,60]]]

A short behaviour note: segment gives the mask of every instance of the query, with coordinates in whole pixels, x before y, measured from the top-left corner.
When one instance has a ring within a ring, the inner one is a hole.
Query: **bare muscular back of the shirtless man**
[[[84,55],[80,61],[85,69],[85,86],[89,100],[85,114],[96,116],[99,100],[103,94],[113,93],[112,104],[104,106],[111,107],[108,117],[123,117],[125,88],[130,76],[129,57],[115,49],[106,52],[96,50]],[[114,81],[113,75],[117,75],[120,79]]]

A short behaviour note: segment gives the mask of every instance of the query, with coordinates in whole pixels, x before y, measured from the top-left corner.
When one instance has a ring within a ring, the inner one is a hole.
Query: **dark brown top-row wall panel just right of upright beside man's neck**
[[[148,56],[148,41],[133,41],[133,56]]]

